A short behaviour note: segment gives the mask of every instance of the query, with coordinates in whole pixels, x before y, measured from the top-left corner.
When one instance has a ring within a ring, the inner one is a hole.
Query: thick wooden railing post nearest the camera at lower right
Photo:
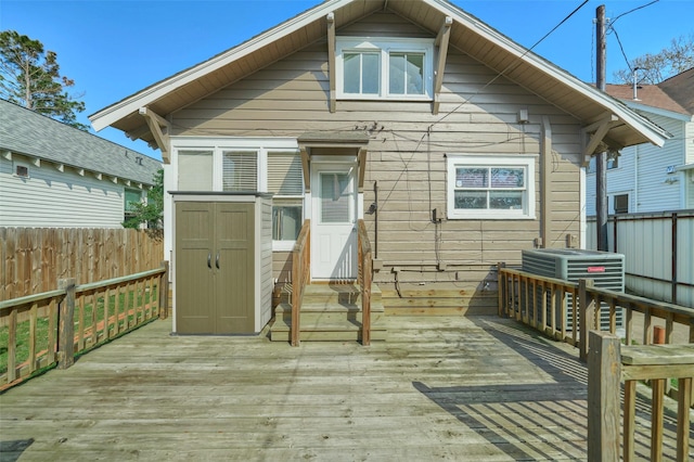
[[[583,333],[581,332],[581,338]],[[588,355],[588,460],[619,460],[620,339],[590,331]]]

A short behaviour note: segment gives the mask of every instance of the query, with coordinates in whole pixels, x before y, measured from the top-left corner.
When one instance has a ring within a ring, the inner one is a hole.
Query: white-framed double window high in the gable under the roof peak
[[[434,41],[429,39],[337,39],[337,98],[432,100]]]

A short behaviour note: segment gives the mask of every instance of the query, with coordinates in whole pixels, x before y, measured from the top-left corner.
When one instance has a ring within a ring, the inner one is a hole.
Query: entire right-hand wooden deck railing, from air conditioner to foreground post
[[[602,310],[608,310],[608,331],[605,332],[600,332]],[[618,310],[624,310],[624,339],[616,335]],[[641,332],[635,332],[634,312],[643,315]],[[633,460],[633,400],[638,380],[654,381],[651,401],[653,416],[651,459],[660,460],[664,425],[663,397],[670,388],[668,381],[670,378],[676,378],[678,384],[677,389],[670,390],[679,400],[678,459],[687,460],[689,409],[692,405],[692,377],[694,376],[694,349],[691,345],[694,343],[694,309],[594,287],[592,280],[581,279],[578,283],[574,283],[505,268],[504,264],[499,264],[499,315],[514,318],[553,338],[578,347],[581,359],[589,361],[589,460],[619,460],[619,444],[617,442],[615,447],[614,441],[618,441],[621,422],[619,419],[620,381],[625,382],[626,390],[625,460]],[[646,352],[630,350],[635,348],[631,346],[634,343],[642,343],[640,347],[646,349],[663,347],[652,346],[655,318],[665,321],[665,343],[670,344],[665,347],[671,349],[669,354],[661,349]],[[570,322],[567,322],[569,319]],[[676,324],[681,324],[689,330],[690,344],[672,344]],[[607,333],[616,338],[616,343],[612,342],[611,347],[601,346],[607,338]],[[622,348],[625,351],[632,356],[641,355],[639,357],[641,359],[637,360],[638,364],[633,359],[629,359],[631,357],[619,352],[622,341],[629,345]],[[612,355],[613,359],[602,359],[612,365],[590,364],[590,361],[595,360],[596,349],[603,351],[600,355]],[[672,355],[672,351],[679,352]],[[678,356],[677,363],[672,362],[674,356]],[[644,357],[647,357],[648,362],[644,362]],[[639,368],[631,365],[639,365]],[[613,374],[607,378],[604,376],[606,370]],[[617,399],[616,403],[615,399]],[[613,437],[605,435],[613,435]],[[606,440],[612,441],[607,444],[607,446],[613,445],[611,451],[603,446]],[[595,449],[595,446],[602,449]],[[601,451],[607,452],[599,458],[597,454]]]

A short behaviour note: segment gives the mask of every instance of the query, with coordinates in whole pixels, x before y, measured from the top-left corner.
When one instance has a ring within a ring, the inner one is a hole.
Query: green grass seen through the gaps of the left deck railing
[[[108,317],[108,326],[107,329],[111,331],[112,335],[115,335],[116,323],[114,321],[114,317],[116,316],[116,307],[118,311],[118,316],[123,317],[123,319],[117,320],[117,330],[118,332],[124,332],[127,329],[132,328],[134,322],[134,316],[128,315],[124,316],[125,310],[133,309],[136,306],[140,306],[142,304],[146,305],[151,301],[155,301],[158,297],[157,286],[154,285],[152,288],[152,293],[142,291],[138,294],[137,304],[133,303],[136,293],[134,291],[129,291],[126,293],[113,294],[108,296],[108,306],[107,306],[107,317]],[[113,291],[111,291],[113,292]],[[103,293],[97,296],[95,303],[94,297],[92,295],[87,295],[85,297],[83,305],[83,313],[80,312],[79,301],[77,300],[75,304],[75,316],[74,316],[74,328],[75,334],[77,335],[79,329],[79,320],[83,320],[83,330],[88,332],[83,336],[85,343],[88,343],[91,335],[91,326],[95,323],[98,325],[98,342],[102,341],[105,335],[104,325],[100,325],[104,321],[104,303],[105,297]],[[139,311],[137,313],[140,318],[140,321],[143,320],[143,312]],[[126,325],[127,321],[127,325]],[[37,319],[36,325],[36,352],[37,357],[44,356],[50,348],[54,348],[54,346],[49,346],[49,317],[42,317]],[[54,325],[57,325],[57,320],[55,320]],[[55,328],[56,329],[56,328]],[[29,334],[30,334],[30,323],[28,320],[17,322],[16,326],[16,354],[15,354],[15,364],[23,364],[29,358]],[[54,333],[53,338],[56,338],[57,335]],[[0,374],[4,374],[8,371],[8,354],[9,354],[9,341],[10,341],[10,328],[3,326],[0,328]]]

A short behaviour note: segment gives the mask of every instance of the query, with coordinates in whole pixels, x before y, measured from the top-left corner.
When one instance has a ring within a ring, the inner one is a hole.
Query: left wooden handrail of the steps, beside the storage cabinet
[[[304,220],[301,231],[292,249],[292,329],[290,335],[292,346],[300,344],[299,313],[301,312],[304,288],[310,279],[311,269],[310,234],[311,220]]]

